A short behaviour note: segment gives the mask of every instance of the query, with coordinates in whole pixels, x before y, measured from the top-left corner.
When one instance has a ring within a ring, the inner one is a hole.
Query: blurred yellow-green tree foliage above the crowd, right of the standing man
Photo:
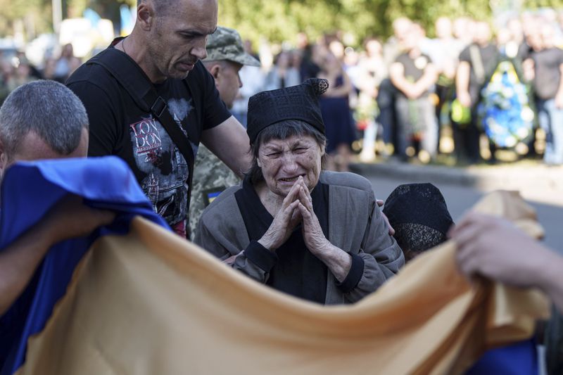
[[[546,0],[547,1],[547,0]],[[298,32],[313,39],[344,30],[356,42],[388,37],[395,18],[406,15],[432,31],[441,15],[488,19],[488,0],[219,0],[219,23],[257,42],[293,41]]]

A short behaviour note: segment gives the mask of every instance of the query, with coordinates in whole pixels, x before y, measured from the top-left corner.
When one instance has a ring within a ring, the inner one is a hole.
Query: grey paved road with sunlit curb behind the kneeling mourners
[[[356,164],[352,168],[372,182],[379,199],[386,199],[399,184],[431,182],[442,191],[455,221],[488,191],[520,191],[538,212],[538,220],[545,228],[545,243],[563,254],[563,168],[452,168],[400,163]]]

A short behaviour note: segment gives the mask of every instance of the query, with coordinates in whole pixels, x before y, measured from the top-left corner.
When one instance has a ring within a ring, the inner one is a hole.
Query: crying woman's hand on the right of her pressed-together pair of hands
[[[299,177],[296,182],[296,185],[297,184],[300,186],[298,208],[299,212],[301,212],[301,217],[303,217],[301,223],[303,240],[310,252],[317,255],[326,251],[330,243],[324,236],[319,219],[312,209],[311,193],[309,189],[307,189],[305,182],[303,182],[303,178]]]

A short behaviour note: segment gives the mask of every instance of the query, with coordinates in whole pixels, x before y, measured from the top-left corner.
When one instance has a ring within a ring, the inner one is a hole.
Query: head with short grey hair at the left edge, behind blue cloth
[[[18,87],[0,108],[0,179],[18,160],[78,158],[88,151],[88,116],[63,84]]]

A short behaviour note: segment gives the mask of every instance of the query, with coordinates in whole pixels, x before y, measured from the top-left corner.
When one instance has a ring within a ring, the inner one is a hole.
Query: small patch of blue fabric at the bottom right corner
[[[538,352],[533,340],[526,340],[486,352],[466,375],[536,375]]]

